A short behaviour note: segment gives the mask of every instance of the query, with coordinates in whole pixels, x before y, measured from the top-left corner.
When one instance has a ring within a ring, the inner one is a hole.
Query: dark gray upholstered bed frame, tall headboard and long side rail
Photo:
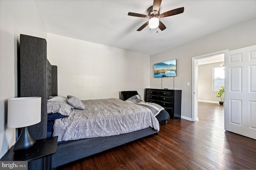
[[[42,97],[41,122],[29,127],[36,140],[46,138],[47,134],[47,99],[58,95],[57,66],[47,60],[45,39],[20,35],[20,56],[18,57],[18,96]],[[71,94],[72,95],[72,94]],[[87,138],[61,142],[52,155],[52,167],[90,156],[116,146],[155,134],[153,128],[145,128],[120,134],[97,138]],[[44,160],[28,162],[28,169],[42,169]]]

